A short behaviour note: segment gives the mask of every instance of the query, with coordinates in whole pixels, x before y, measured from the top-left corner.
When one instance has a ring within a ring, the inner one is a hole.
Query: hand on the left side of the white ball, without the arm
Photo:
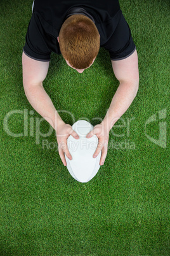
[[[58,153],[60,155],[60,158],[62,159],[64,166],[67,166],[65,155],[67,155],[67,157],[72,160],[72,156],[67,146],[67,139],[69,138],[70,134],[75,139],[79,139],[78,134],[72,129],[71,125],[65,124],[65,122],[62,122],[62,124],[58,124],[58,127],[56,128],[56,139],[58,143]]]

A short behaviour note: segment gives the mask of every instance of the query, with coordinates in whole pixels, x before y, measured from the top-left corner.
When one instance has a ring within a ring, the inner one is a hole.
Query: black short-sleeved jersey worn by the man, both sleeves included
[[[60,54],[60,28],[66,18],[78,13],[95,22],[100,46],[108,50],[112,60],[134,52],[131,31],[118,0],[34,0],[23,52],[41,61],[49,61],[51,52]]]

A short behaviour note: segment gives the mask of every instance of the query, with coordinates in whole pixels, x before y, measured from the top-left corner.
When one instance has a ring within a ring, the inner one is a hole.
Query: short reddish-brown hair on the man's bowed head
[[[60,51],[76,69],[88,68],[100,49],[100,35],[94,22],[84,15],[72,15],[59,33]]]

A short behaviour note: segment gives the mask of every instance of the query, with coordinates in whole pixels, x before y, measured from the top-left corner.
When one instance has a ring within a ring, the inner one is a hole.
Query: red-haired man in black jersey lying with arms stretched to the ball
[[[118,0],[34,0],[25,46],[23,47],[23,87],[32,107],[56,131],[58,152],[66,166],[65,155],[70,134],[79,136],[57,113],[42,82],[46,78],[50,53],[63,55],[77,72],[88,69],[96,59],[100,46],[110,53],[112,68],[120,85],[101,124],[94,127],[99,139],[93,157],[101,152],[100,165],[107,156],[109,131],[128,110],[138,91],[138,55],[129,26]]]

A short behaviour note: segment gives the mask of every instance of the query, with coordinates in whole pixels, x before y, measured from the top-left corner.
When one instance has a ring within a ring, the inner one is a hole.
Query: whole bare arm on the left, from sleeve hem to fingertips
[[[31,59],[23,53],[22,67],[25,95],[34,110],[36,110],[49,122],[53,129],[55,129],[58,142],[58,152],[63,164],[66,166],[67,163],[64,153],[69,159],[72,159],[67,147],[67,138],[69,138],[70,134],[72,134],[75,139],[78,139],[79,136],[72,130],[71,125],[63,122],[51,99],[43,88],[42,82],[48,73],[49,62]]]

